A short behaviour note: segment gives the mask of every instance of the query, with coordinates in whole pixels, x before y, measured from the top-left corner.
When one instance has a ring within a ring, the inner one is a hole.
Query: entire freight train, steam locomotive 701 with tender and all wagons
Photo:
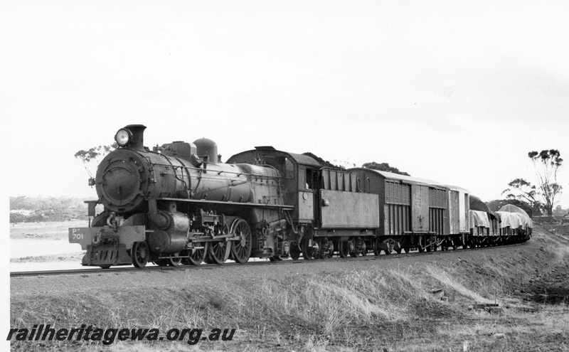
[[[86,250],[82,265],[313,260],[499,245],[531,236],[527,215],[502,223],[500,212],[471,210],[462,188],[371,169],[334,169],[272,146],[227,163],[210,139],[150,150],[144,129],[119,129],[118,148],[90,180],[98,196],[87,201],[92,221],[69,229],[69,241]]]

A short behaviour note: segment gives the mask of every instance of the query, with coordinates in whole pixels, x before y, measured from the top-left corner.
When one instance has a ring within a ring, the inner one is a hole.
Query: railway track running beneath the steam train
[[[448,252],[467,252],[472,250],[499,250],[500,248],[504,247],[515,247],[519,245],[525,245],[526,242],[523,243],[516,243],[513,245],[500,245],[495,247],[479,247],[479,248],[468,248],[464,249],[457,249],[457,250],[449,250]],[[401,259],[405,257],[416,257],[421,255],[441,255],[445,253],[445,251],[437,250],[434,252],[410,252],[407,254],[390,254],[390,255],[373,255],[368,254],[361,257],[351,257],[351,258],[341,258],[341,257],[333,257],[327,259],[316,259],[316,260],[282,260],[278,262],[270,262],[269,260],[263,260],[258,262],[245,262],[243,264],[229,262],[223,265],[217,264],[201,264],[201,265],[179,265],[176,267],[168,266],[168,267],[160,267],[160,266],[153,266],[153,267],[144,267],[144,268],[137,268],[137,267],[112,267],[109,269],[101,269],[101,268],[85,268],[85,269],[73,269],[73,270],[43,270],[43,271],[28,271],[28,272],[10,272],[10,277],[34,277],[34,276],[54,276],[54,275],[75,275],[75,274],[107,274],[107,273],[117,273],[117,272],[148,272],[148,271],[187,271],[187,270],[213,270],[216,268],[221,267],[233,267],[235,265],[239,267],[243,267],[244,265],[247,266],[254,266],[254,265],[294,265],[294,264],[309,264],[311,262],[353,262],[356,260],[393,260],[393,259]]]

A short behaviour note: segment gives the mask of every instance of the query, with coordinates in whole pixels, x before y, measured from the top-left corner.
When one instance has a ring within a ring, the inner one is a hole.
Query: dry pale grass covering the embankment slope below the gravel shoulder
[[[563,267],[569,250],[544,242],[543,251],[475,262],[395,270],[289,275],[225,287],[191,284],[158,292],[127,291],[70,297],[12,299],[11,326],[237,329],[233,341],[119,342],[105,351],[558,351],[569,346],[565,304],[524,302],[514,290],[534,266]],[[432,294],[442,289],[445,299]],[[501,314],[469,310],[498,302]],[[530,307],[530,311],[528,311]],[[498,334],[498,335],[496,335]],[[504,334],[503,336],[499,334]],[[563,344],[564,343],[564,344]],[[16,351],[43,348],[100,351],[97,343],[13,341]]]

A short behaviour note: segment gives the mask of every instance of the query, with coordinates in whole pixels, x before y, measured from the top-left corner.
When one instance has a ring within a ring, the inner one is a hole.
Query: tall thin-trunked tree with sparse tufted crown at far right
[[[530,151],[528,157],[533,161],[533,169],[536,170],[538,177],[538,186],[543,199],[543,208],[551,218],[553,216],[553,207],[558,203],[557,196],[560,196],[562,187],[557,183],[557,171],[563,163],[561,154],[557,149]],[[539,166],[539,167],[538,167]]]

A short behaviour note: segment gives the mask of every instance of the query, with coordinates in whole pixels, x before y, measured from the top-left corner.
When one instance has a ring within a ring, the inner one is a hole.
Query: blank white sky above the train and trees
[[[568,18],[567,1],[4,1],[7,192],[95,197],[75,151],[145,124],[147,146],[388,162],[501,198],[535,181],[528,151],[569,163]],[[568,208],[567,166],[558,181]]]

